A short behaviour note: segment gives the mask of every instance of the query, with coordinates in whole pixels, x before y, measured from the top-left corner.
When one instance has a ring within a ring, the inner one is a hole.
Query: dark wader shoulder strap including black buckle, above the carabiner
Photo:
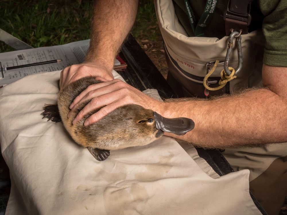
[[[229,0],[227,10],[224,14],[226,36],[230,35],[230,29],[248,33],[248,26],[251,22],[251,2],[253,0]]]

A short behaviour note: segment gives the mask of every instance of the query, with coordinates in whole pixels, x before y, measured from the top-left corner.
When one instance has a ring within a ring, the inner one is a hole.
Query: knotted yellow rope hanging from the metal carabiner
[[[214,70],[216,69],[216,66],[217,66],[218,62],[219,62],[219,60],[216,60],[216,62],[214,64],[214,66],[212,67],[212,69],[209,71],[209,73],[203,79],[203,85],[208,90],[219,90],[222,87],[224,87],[228,81],[231,81],[232,79],[236,78],[236,76],[234,75],[235,69],[233,69],[232,67],[228,67],[228,69],[231,72],[231,74],[227,75],[225,73],[224,69],[222,69],[222,71],[220,73],[221,79],[219,81],[219,86],[218,87],[214,87],[214,88],[208,87],[208,85],[206,84],[206,81],[210,77],[210,75],[214,72]]]

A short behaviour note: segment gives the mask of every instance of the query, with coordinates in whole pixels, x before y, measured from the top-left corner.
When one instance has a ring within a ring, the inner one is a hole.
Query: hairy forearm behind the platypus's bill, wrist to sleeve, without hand
[[[263,65],[262,77],[262,89],[210,101],[166,103],[165,114],[193,119],[195,128],[179,138],[199,146],[287,142],[287,68]]]

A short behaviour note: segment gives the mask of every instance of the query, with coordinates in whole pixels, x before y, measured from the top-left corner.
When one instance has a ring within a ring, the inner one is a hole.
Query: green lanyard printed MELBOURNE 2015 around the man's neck
[[[189,23],[196,37],[204,37],[205,28],[208,26],[212,19],[212,16],[214,15],[217,2],[218,0],[207,0],[203,14],[198,21],[191,8],[191,5],[189,4],[189,1],[184,0],[185,8],[189,17]]]

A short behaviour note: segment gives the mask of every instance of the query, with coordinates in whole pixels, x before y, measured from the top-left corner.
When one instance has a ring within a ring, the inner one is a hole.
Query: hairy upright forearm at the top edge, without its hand
[[[102,59],[108,68],[113,68],[115,56],[131,30],[136,14],[135,0],[95,1],[91,42],[86,61],[95,62]]]

